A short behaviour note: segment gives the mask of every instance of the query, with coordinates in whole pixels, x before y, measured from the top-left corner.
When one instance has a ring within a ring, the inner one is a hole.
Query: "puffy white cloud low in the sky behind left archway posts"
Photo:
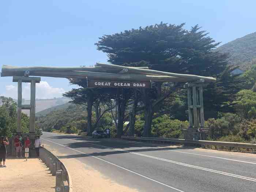
[[[36,83],[35,98],[38,99],[51,99],[54,97],[62,97],[65,93],[63,88],[54,88],[46,81]],[[18,87],[13,85],[5,86],[5,92],[1,94],[5,97],[18,98]],[[30,99],[30,83],[22,83],[22,98]]]

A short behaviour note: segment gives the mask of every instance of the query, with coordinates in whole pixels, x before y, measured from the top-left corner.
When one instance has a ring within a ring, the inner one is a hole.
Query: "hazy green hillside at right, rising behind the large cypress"
[[[256,32],[230,41],[217,49],[230,54],[230,64],[239,65],[242,70],[249,69],[256,64]]]

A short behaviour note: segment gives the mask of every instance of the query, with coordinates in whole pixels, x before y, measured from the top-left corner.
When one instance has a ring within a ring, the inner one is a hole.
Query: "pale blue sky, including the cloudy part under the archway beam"
[[[94,45],[98,37],[161,21],[185,22],[187,29],[199,24],[224,44],[256,31],[255,7],[255,0],[1,1],[0,67],[106,62]],[[66,79],[41,80],[37,98],[60,97],[72,88]],[[12,78],[0,78],[0,95],[16,98],[16,86]]]

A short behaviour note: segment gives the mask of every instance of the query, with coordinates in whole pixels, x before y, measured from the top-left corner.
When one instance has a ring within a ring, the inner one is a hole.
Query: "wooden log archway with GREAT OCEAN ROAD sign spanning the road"
[[[31,82],[31,88],[40,79],[30,76],[46,76],[68,79],[87,79],[90,87],[116,87],[116,88],[151,88],[152,82],[183,82],[188,89],[188,116],[189,127],[204,127],[203,113],[203,87],[215,82],[216,79],[206,76],[176,74],[163,71],[155,71],[148,67],[125,67],[112,64],[96,63],[94,67],[14,67],[3,65],[1,76],[13,76],[13,81],[18,82],[18,128],[20,128],[21,109],[30,109],[30,119],[34,121],[34,103],[21,104],[21,83]],[[32,89],[31,89],[32,90]],[[31,91],[31,101],[34,102],[35,93]],[[31,123],[31,122],[30,122]],[[34,123],[31,123],[31,132],[34,131]],[[20,132],[20,129],[17,130]]]

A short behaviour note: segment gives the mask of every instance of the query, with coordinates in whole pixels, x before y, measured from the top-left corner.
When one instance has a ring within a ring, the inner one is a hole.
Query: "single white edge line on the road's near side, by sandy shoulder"
[[[44,138],[41,138],[41,139],[44,139]],[[82,153],[82,154],[84,154],[84,155],[87,155],[87,156],[90,156],[90,157],[96,158],[96,159],[98,159],[98,160],[100,160],[100,161],[103,161],[103,162],[105,162],[105,163],[109,163],[110,165],[113,165],[113,166],[116,166],[116,167],[118,167],[118,168],[124,169],[124,170],[126,170],[126,171],[128,171],[128,172],[134,173],[134,174],[136,174],[136,175],[138,175],[138,176],[140,176],[140,177],[146,178],[146,179],[148,179],[148,180],[150,180],[150,181],[157,182],[158,184],[164,185],[165,187],[169,187],[169,188],[174,189],[174,190],[179,191],[179,192],[184,192],[184,191],[181,191],[180,189],[177,189],[177,188],[171,187],[171,186],[169,186],[169,185],[166,185],[166,184],[164,184],[164,183],[162,183],[162,182],[159,182],[159,181],[157,181],[157,180],[151,179],[151,178],[149,178],[149,177],[147,177],[147,176],[144,176],[144,175],[142,175],[142,174],[139,174],[139,173],[133,172],[132,170],[126,169],[126,168],[124,168],[124,167],[121,167],[121,166],[116,165],[116,164],[114,164],[114,163],[111,163],[111,162],[109,162],[109,161],[105,161],[104,159],[101,159],[101,158],[95,157],[95,156],[90,155],[90,154],[83,153],[82,151],[75,150],[75,149],[73,149],[73,148],[70,148],[70,147],[64,146],[64,145],[59,144],[59,143],[52,142],[52,141],[47,140],[47,139],[44,139],[44,140],[46,140],[46,141],[48,141],[48,142],[51,142],[51,143],[54,143],[54,144],[57,144],[57,145],[60,145],[60,146],[65,147],[65,148],[69,148],[69,149],[71,149],[71,150],[73,150],[73,151],[76,151],[76,152],[78,152],[78,153]]]

